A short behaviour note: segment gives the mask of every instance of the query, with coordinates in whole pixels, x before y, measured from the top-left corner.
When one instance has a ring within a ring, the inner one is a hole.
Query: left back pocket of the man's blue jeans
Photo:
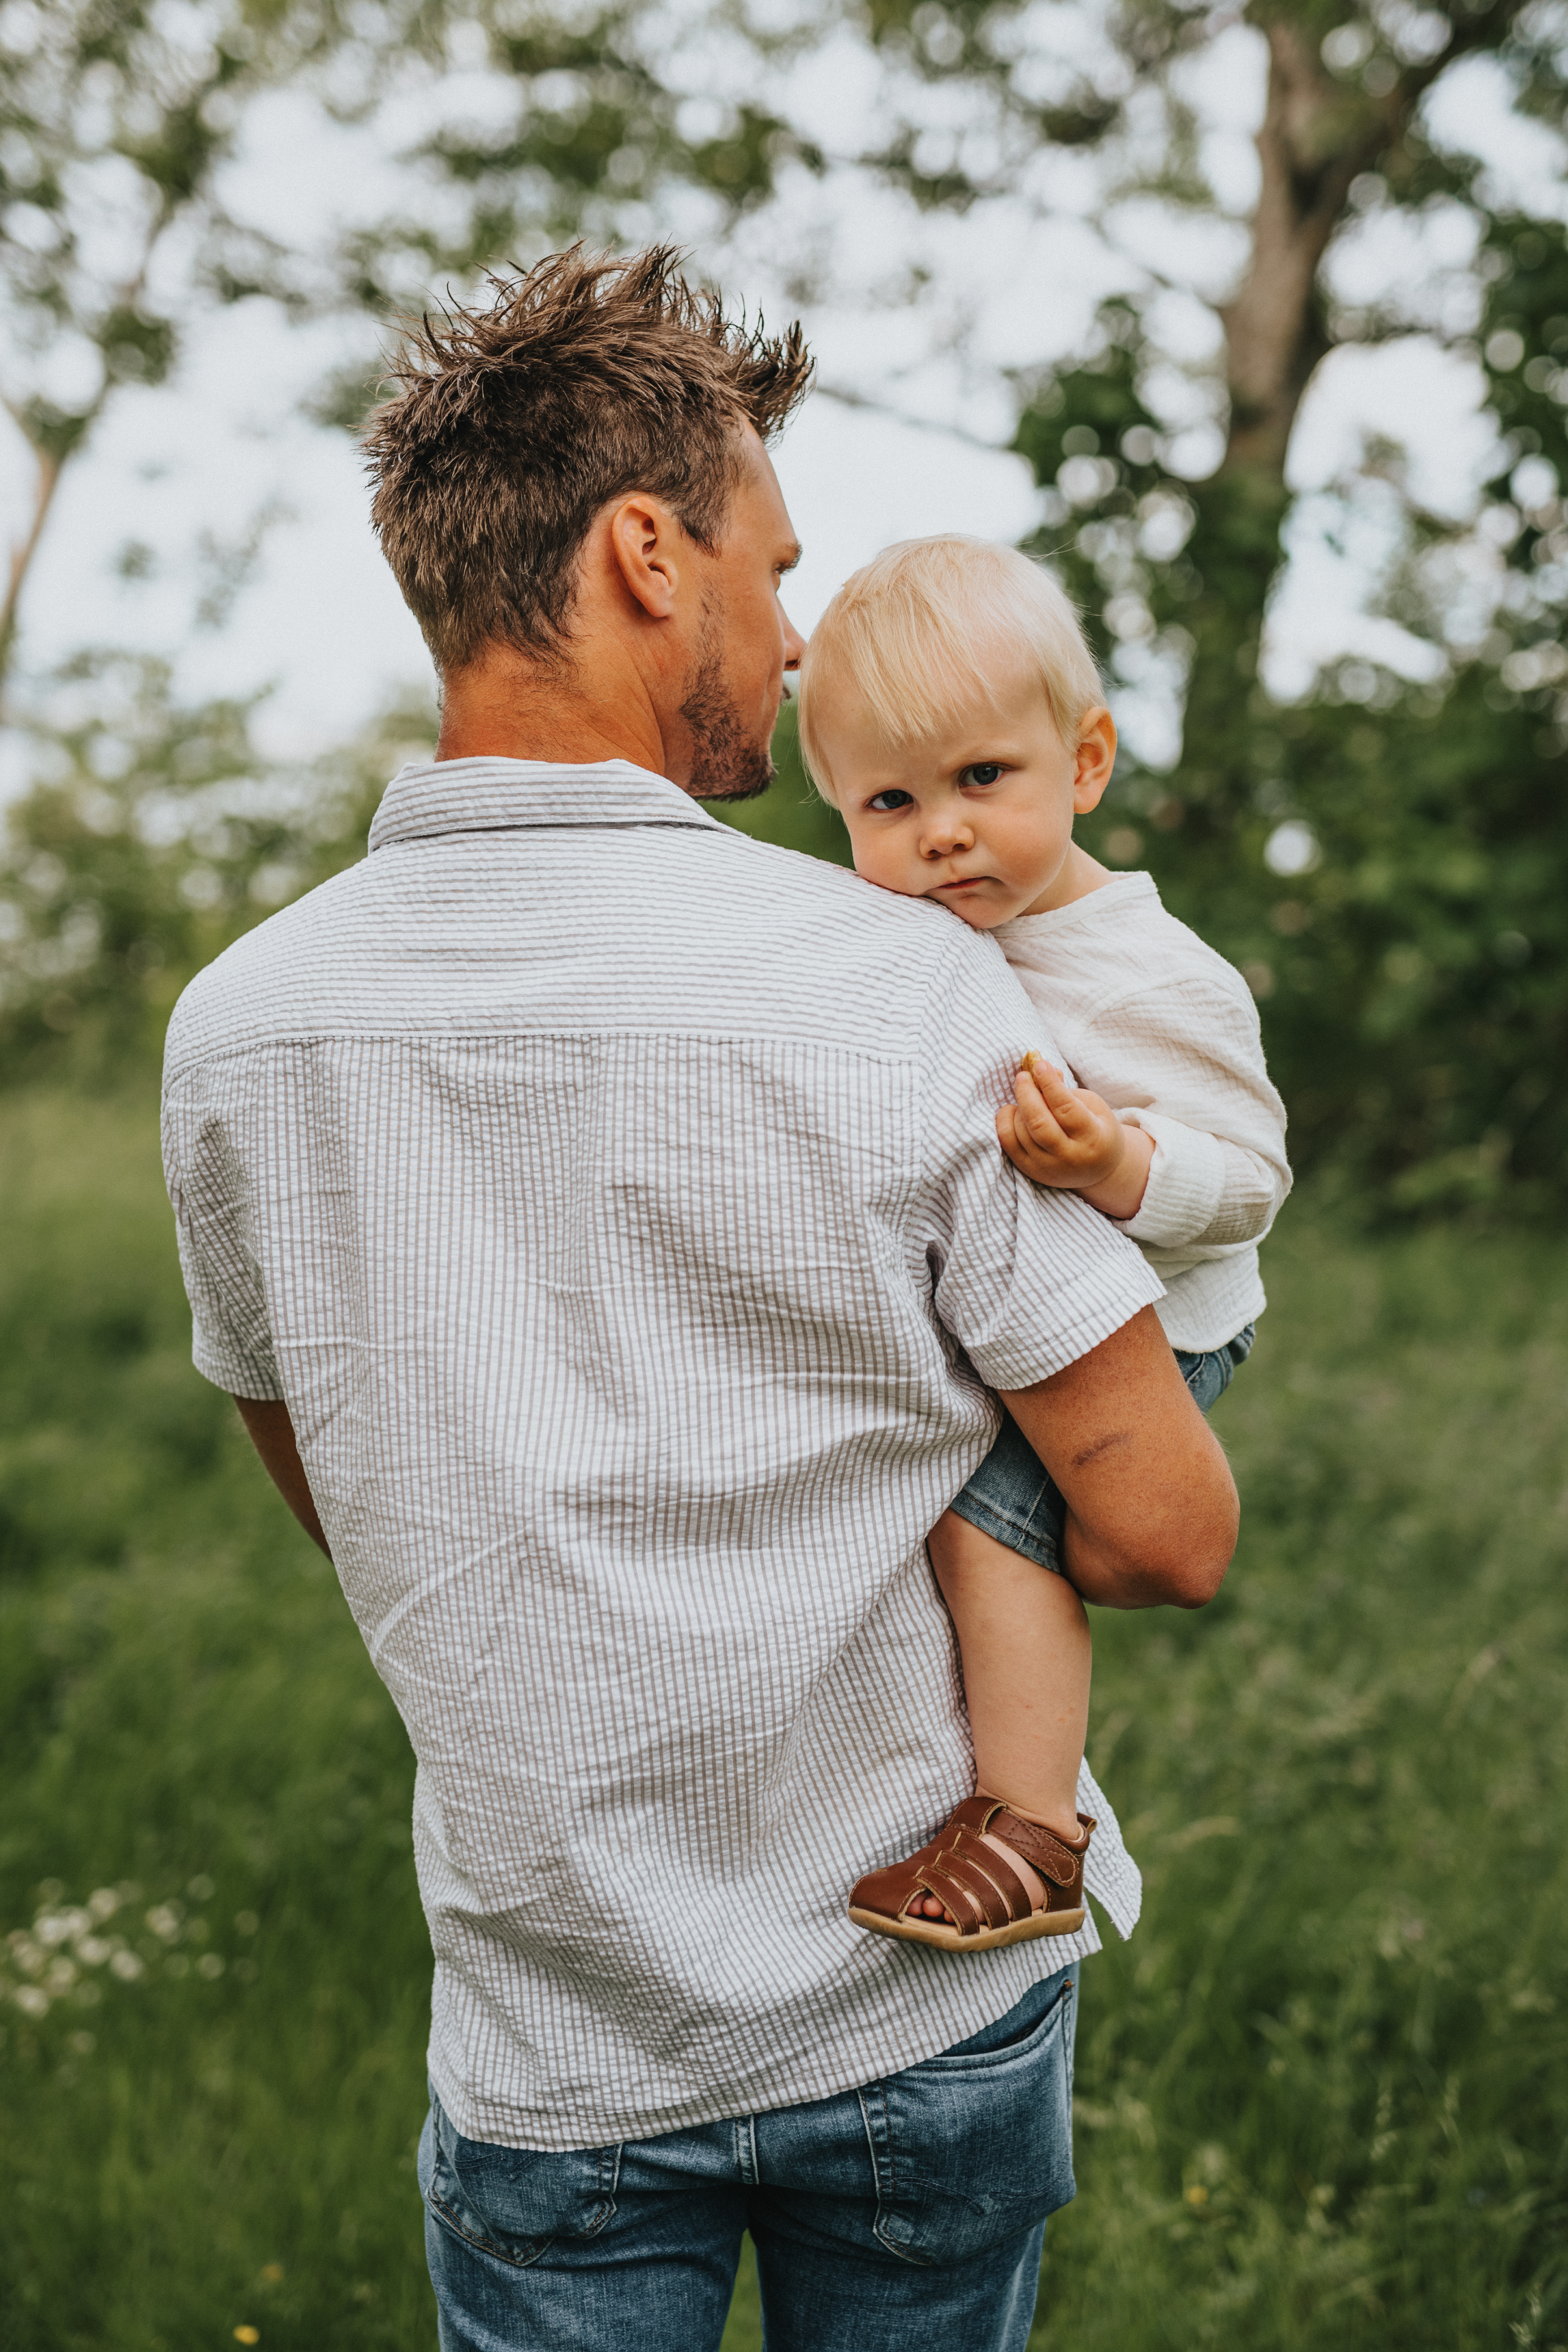
[[[465,2140],[437,2100],[418,2143],[418,2180],[444,2230],[527,2270],[562,2237],[588,2239],[616,2211],[618,2147],[496,2147]]]

